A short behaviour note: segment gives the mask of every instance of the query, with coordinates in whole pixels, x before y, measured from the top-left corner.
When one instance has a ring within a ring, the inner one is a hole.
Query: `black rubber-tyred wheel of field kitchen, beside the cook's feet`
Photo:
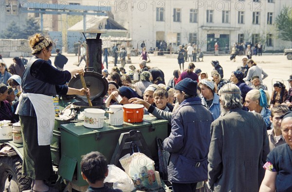
[[[22,192],[31,188],[31,179],[21,174],[19,157],[0,157],[0,191]]]

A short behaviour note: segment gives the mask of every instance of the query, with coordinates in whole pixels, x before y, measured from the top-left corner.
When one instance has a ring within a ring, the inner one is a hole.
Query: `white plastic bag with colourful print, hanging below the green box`
[[[126,154],[120,158],[120,163],[134,181],[137,190],[156,191],[162,187],[155,176],[154,161],[145,154]]]

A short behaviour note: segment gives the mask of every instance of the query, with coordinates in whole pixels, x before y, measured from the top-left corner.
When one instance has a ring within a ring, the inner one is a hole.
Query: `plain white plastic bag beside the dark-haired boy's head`
[[[119,189],[123,192],[132,192],[136,190],[132,179],[120,168],[115,165],[109,165],[109,175],[104,182],[113,183],[113,189]]]

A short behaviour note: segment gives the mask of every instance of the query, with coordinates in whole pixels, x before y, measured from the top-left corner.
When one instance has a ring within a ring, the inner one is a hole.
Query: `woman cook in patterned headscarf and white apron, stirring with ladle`
[[[53,173],[50,144],[53,137],[55,95],[90,95],[89,89],[74,89],[66,86],[71,77],[84,69],[59,71],[49,62],[53,41],[41,34],[29,38],[33,57],[27,64],[22,77],[22,94],[17,112],[23,137],[22,173],[33,180],[32,190],[58,192],[47,186],[44,180]],[[44,126],[44,119],[48,123]]]

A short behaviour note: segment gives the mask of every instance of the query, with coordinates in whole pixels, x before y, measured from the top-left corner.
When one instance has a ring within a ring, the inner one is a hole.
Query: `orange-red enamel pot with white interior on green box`
[[[143,121],[144,105],[126,104],[124,108],[124,121],[128,123],[140,123]]]

